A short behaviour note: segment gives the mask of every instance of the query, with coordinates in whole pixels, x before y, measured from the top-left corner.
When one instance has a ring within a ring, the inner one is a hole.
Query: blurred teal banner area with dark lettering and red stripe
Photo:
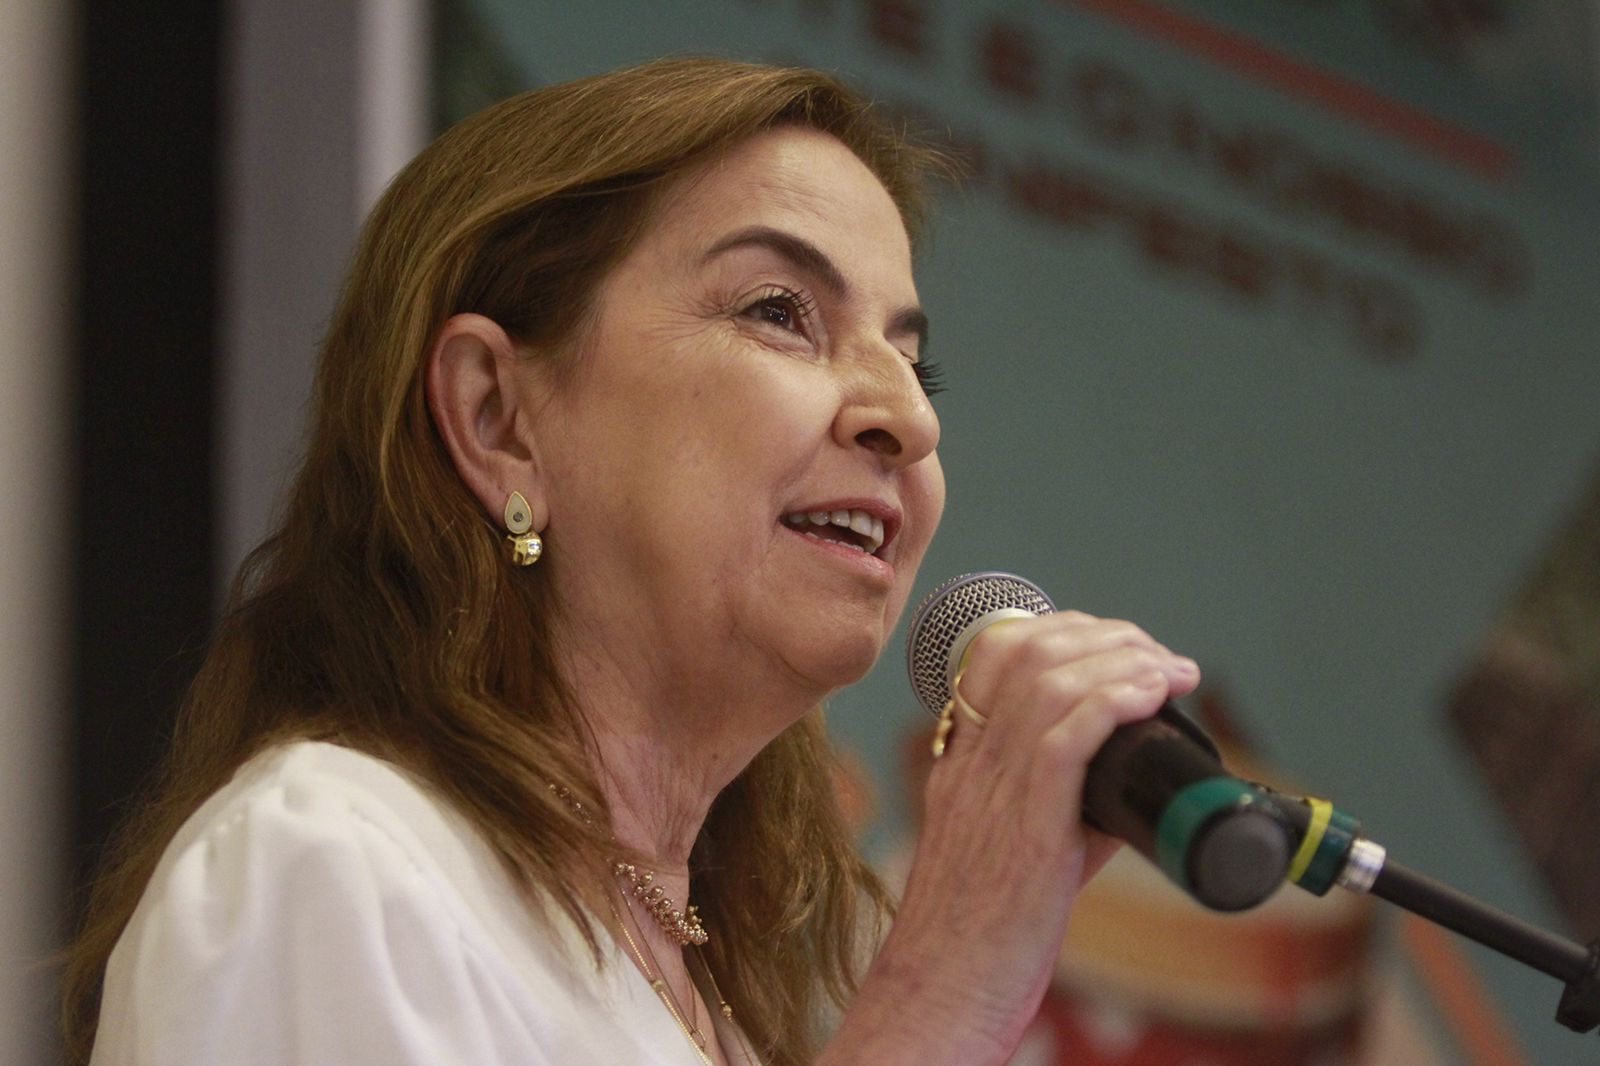
[[[1590,14],[454,0],[440,107],[717,53],[837,70],[947,138],[973,179],[918,272],[950,386],[922,587],[1014,570],[1136,619],[1397,860],[1558,928],[1443,706],[1595,472]],[[830,706],[878,847],[925,723],[899,656]],[[1472,957],[1531,1061],[1579,1055],[1552,980]]]

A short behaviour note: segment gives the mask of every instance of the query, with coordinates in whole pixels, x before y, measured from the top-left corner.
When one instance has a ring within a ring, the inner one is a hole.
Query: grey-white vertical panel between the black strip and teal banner
[[[218,589],[272,527],[362,214],[426,136],[422,0],[237,0]]]

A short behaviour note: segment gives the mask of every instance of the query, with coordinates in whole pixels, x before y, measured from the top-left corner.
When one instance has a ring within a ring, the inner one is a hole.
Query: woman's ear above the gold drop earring
[[[456,472],[496,525],[506,499],[522,493],[533,528],[549,509],[517,389],[517,344],[491,319],[453,315],[434,338],[424,378],[427,410]]]

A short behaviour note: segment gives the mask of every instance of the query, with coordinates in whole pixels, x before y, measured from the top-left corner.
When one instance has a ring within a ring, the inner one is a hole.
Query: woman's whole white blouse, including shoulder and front
[[[168,845],[110,954],[91,1066],[699,1063],[616,944],[597,970],[562,928],[400,770],[275,747]]]

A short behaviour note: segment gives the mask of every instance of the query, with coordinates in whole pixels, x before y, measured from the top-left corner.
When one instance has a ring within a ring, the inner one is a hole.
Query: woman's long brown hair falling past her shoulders
[[[467,311],[528,349],[573,352],[662,187],[779,125],[843,141],[915,235],[925,181],[944,170],[936,152],[827,75],[720,59],[507,99],[395,178],[323,343],[283,520],[235,579],[154,799],[123,828],[69,952],[74,1061],[88,1058],[107,956],[173,834],[242,762],[290,738],[331,739],[427,781],[538,914],[565,912],[597,944],[589,916],[605,912],[614,844],[603,816],[586,824],[549,789],[560,781],[605,813],[554,669],[562,605],[538,567],[507,565],[432,426],[422,367],[443,322]],[[718,933],[710,965],[773,1066],[813,1055],[824,1002],[854,989],[866,919],[886,909],[835,808],[830,767],[813,714],[717,799],[691,856]]]

